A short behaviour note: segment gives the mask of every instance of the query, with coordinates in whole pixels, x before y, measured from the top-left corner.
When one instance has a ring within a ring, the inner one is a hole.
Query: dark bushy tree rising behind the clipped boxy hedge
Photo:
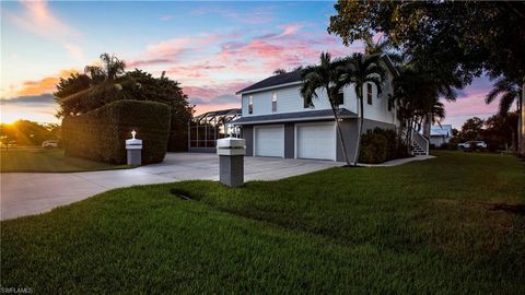
[[[187,148],[187,122],[192,107],[180,84],[162,73],[160,78],[136,69],[125,72],[126,62],[101,55],[101,66],[86,66],[83,74],[72,74],[57,84],[57,117],[78,116],[120,99],[153,101],[170,106],[172,114],[167,149]]]

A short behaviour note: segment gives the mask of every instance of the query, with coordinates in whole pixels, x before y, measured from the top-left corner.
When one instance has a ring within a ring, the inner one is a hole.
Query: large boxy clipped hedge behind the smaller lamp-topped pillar
[[[126,140],[131,130],[142,140],[142,164],[159,163],[166,154],[170,107],[154,102],[117,101],[62,120],[66,155],[126,164]]]

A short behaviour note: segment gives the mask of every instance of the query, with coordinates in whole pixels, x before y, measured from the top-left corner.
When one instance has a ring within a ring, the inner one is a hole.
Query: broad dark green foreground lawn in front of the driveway
[[[523,294],[525,215],[489,209],[524,204],[524,163],[436,154],[238,189],[118,189],[5,221],[0,284],[36,293]]]

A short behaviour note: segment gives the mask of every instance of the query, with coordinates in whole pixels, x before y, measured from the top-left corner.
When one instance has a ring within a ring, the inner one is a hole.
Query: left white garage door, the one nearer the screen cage
[[[284,157],[284,128],[282,126],[255,127],[256,156]]]

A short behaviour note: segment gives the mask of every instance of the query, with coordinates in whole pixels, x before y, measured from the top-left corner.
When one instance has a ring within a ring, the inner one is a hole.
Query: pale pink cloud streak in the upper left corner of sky
[[[47,1],[21,1],[24,12],[19,14],[7,13],[8,19],[19,27],[39,35],[47,39],[58,42],[77,60],[83,60],[80,46],[71,43],[80,33],[57,17],[48,7]]]

